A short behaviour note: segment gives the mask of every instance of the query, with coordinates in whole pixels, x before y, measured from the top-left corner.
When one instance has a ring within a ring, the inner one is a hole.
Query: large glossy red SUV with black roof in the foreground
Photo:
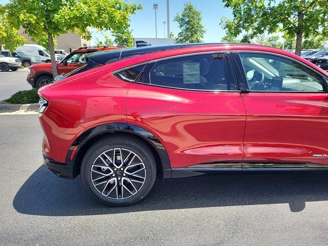
[[[92,54],[39,89],[44,163],[116,206],[145,197],[156,175],[328,170],[327,79],[257,45]]]

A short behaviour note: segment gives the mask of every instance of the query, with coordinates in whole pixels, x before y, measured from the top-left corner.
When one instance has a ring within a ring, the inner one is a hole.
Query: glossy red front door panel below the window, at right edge
[[[328,93],[242,94],[247,111],[244,161],[328,165]]]

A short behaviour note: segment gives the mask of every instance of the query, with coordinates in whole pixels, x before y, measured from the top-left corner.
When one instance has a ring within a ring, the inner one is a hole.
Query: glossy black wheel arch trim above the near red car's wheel
[[[160,178],[171,178],[171,164],[169,155],[162,145],[160,140],[148,130],[123,123],[123,122],[115,122],[115,123],[107,123],[102,124],[91,129],[86,130],[85,132],[81,133],[71,145],[67,156],[66,156],[66,164],[69,166],[73,166],[73,178],[76,177],[80,173],[80,154],[83,154],[85,151],[84,146],[88,146],[87,143],[90,140],[96,139],[98,136],[106,134],[106,133],[117,133],[117,132],[124,132],[129,133],[132,135],[136,135],[144,139],[150,146],[152,146],[153,150],[155,150],[159,161],[161,162],[162,170],[158,170],[158,175]],[[77,147],[76,153],[74,155],[73,160],[70,159],[73,150]],[[156,161],[158,160],[156,158]]]

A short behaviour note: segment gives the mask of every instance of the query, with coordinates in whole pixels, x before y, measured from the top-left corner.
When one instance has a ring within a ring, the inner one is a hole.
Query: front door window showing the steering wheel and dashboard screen
[[[256,53],[240,59],[251,91],[324,91],[323,77],[296,61]]]

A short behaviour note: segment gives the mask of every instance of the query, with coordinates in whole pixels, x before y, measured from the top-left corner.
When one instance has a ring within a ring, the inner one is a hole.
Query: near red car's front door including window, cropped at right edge
[[[247,113],[243,168],[328,167],[326,77],[281,55],[233,56],[238,56],[239,72],[244,71],[240,74]]]

